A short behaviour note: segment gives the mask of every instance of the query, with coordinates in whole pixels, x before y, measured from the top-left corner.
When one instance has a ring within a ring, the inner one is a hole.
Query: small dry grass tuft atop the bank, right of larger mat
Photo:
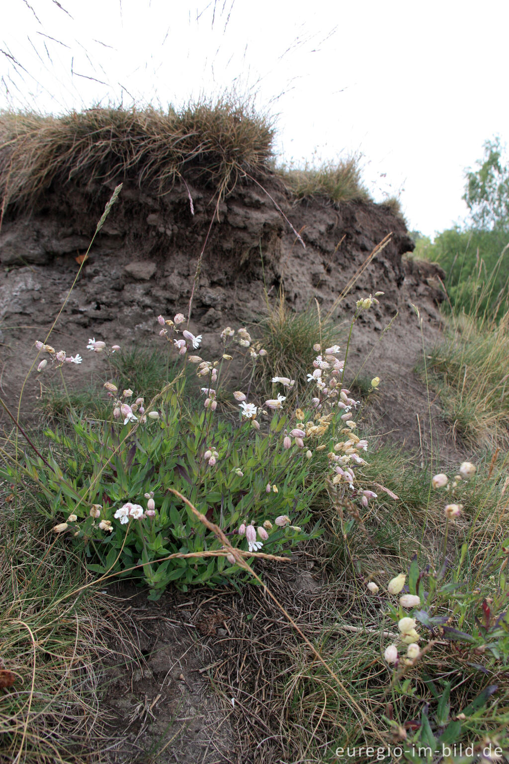
[[[285,186],[297,199],[330,199],[332,202],[369,200],[362,186],[359,160],[348,157],[337,162],[327,161],[303,169],[279,168]]]

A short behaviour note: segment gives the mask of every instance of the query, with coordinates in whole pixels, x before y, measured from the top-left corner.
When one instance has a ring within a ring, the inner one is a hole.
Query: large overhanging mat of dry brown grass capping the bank
[[[131,177],[164,194],[186,177],[220,195],[245,173],[266,173],[273,128],[234,96],[189,102],[178,111],[89,108],[55,117],[0,113],[4,206],[33,204],[52,184],[87,186]]]

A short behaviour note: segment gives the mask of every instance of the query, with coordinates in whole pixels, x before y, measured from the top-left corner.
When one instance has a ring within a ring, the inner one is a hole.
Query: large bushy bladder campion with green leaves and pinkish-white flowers
[[[157,320],[168,358],[170,353],[181,358],[179,373],[147,404],[133,390],[106,382],[111,416],[105,422],[71,413],[70,427],[47,430],[53,444],[48,455],[35,449],[22,465],[34,481],[40,509],[61,519],[55,532],[71,535],[92,571],[142,579],[150,599],[160,597],[171,581],[182,589],[237,583],[250,577],[240,557],[249,562],[255,555],[288,553],[319,533],[318,523],[307,532],[301,526],[311,520],[314,497],[324,490],[324,465],[333,471],[333,483],[359,503],[375,497],[355,484],[354,468],[364,463],[359,451],[366,451],[367,442],[354,432],[359,401],[341,386],[337,345],[323,353],[314,345],[307,403],[286,411],[286,396],[278,392],[259,406],[237,390],[234,425],[217,411],[224,364],[235,345],[246,349],[253,364],[264,364],[266,351],[246,329],[227,327],[221,332],[221,357],[204,361],[196,354],[201,335],[182,329],[182,313]],[[36,346],[65,384],[66,353],[41,342]],[[87,347],[98,356],[120,349],[95,338]],[[195,406],[184,396],[190,369],[203,396]],[[295,382],[273,377],[272,384],[285,392]],[[341,442],[336,442],[338,429]],[[328,462],[321,458],[326,448]],[[221,529],[222,540],[211,523]]]

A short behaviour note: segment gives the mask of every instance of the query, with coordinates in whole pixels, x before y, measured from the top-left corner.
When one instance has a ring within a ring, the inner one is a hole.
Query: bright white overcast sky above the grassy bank
[[[465,217],[465,168],[507,138],[507,0],[4,2],[0,108],[236,87],[277,116],[285,160],[362,154],[375,198],[428,235]]]

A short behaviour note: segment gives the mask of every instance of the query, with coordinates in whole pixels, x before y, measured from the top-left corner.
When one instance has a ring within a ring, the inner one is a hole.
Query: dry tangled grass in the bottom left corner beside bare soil
[[[112,597],[76,593],[82,564],[60,538],[41,531],[27,507],[15,509],[16,497],[7,498],[0,518],[0,760],[98,764],[106,743],[123,743],[122,736],[113,740],[99,698],[108,642],[117,659],[127,643],[125,617]]]

